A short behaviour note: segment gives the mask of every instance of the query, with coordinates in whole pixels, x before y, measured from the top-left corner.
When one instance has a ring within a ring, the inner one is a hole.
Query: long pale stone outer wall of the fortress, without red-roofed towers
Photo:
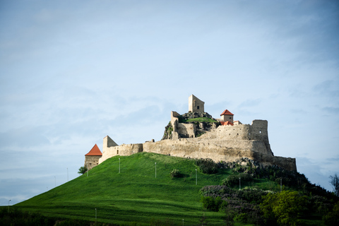
[[[203,102],[199,101],[196,102],[198,103],[196,106],[203,109]],[[193,105],[194,100],[189,103]],[[189,109],[194,110],[194,106]],[[99,164],[116,155],[147,152],[177,157],[210,158],[215,162],[233,162],[247,157],[259,162],[262,166],[278,165],[297,171],[295,158],[273,155],[268,141],[268,121],[266,120],[254,120],[251,125],[238,123],[233,126],[215,126],[210,131],[196,137],[196,124],[179,123],[178,117],[177,112],[171,112],[172,139],[117,145],[112,138],[106,136]],[[186,138],[180,138],[180,135]]]

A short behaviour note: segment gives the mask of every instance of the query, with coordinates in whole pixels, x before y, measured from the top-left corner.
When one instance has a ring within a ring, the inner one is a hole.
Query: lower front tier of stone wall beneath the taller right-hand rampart
[[[143,152],[198,159],[210,158],[215,162],[234,162],[242,157],[248,157],[260,162],[263,166],[278,165],[288,170],[297,170],[295,158],[267,155],[268,152],[263,141],[192,142],[193,139],[179,138],[177,141],[163,140],[155,143],[143,143]]]

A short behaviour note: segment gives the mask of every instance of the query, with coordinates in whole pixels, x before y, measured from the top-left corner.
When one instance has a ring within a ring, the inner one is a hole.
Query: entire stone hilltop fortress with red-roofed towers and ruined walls
[[[95,145],[85,155],[88,169],[115,155],[159,153],[177,157],[210,158],[215,162],[234,162],[248,158],[261,166],[278,165],[297,171],[295,158],[274,156],[268,142],[268,121],[254,120],[250,124],[233,121],[234,114],[227,109],[220,119],[213,119],[204,112],[204,102],[194,95],[189,97],[189,112],[171,112],[171,121],[165,127],[161,141],[146,141],[117,145],[106,136],[102,155]]]

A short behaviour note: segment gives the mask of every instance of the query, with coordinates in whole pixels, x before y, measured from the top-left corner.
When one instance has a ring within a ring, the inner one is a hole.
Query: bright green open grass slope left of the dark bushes
[[[119,159],[121,173],[119,174]],[[157,178],[155,178],[157,162]],[[194,160],[155,153],[116,156],[57,188],[16,206],[23,210],[40,211],[44,215],[94,220],[115,224],[143,222],[152,218],[170,219],[179,224],[198,223],[204,213],[199,202],[199,189],[220,184],[230,173],[227,169],[214,175],[198,172]],[[169,172],[179,169],[183,178],[170,179]],[[224,214],[206,212],[210,222],[222,222]]]

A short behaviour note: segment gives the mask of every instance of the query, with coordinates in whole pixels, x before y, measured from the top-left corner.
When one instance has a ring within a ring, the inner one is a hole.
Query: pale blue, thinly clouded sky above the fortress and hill
[[[0,205],[78,177],[109,135],[159,141],[188,97],[268,120],[273,153],[339,173],[338,1],[0,1]]]

